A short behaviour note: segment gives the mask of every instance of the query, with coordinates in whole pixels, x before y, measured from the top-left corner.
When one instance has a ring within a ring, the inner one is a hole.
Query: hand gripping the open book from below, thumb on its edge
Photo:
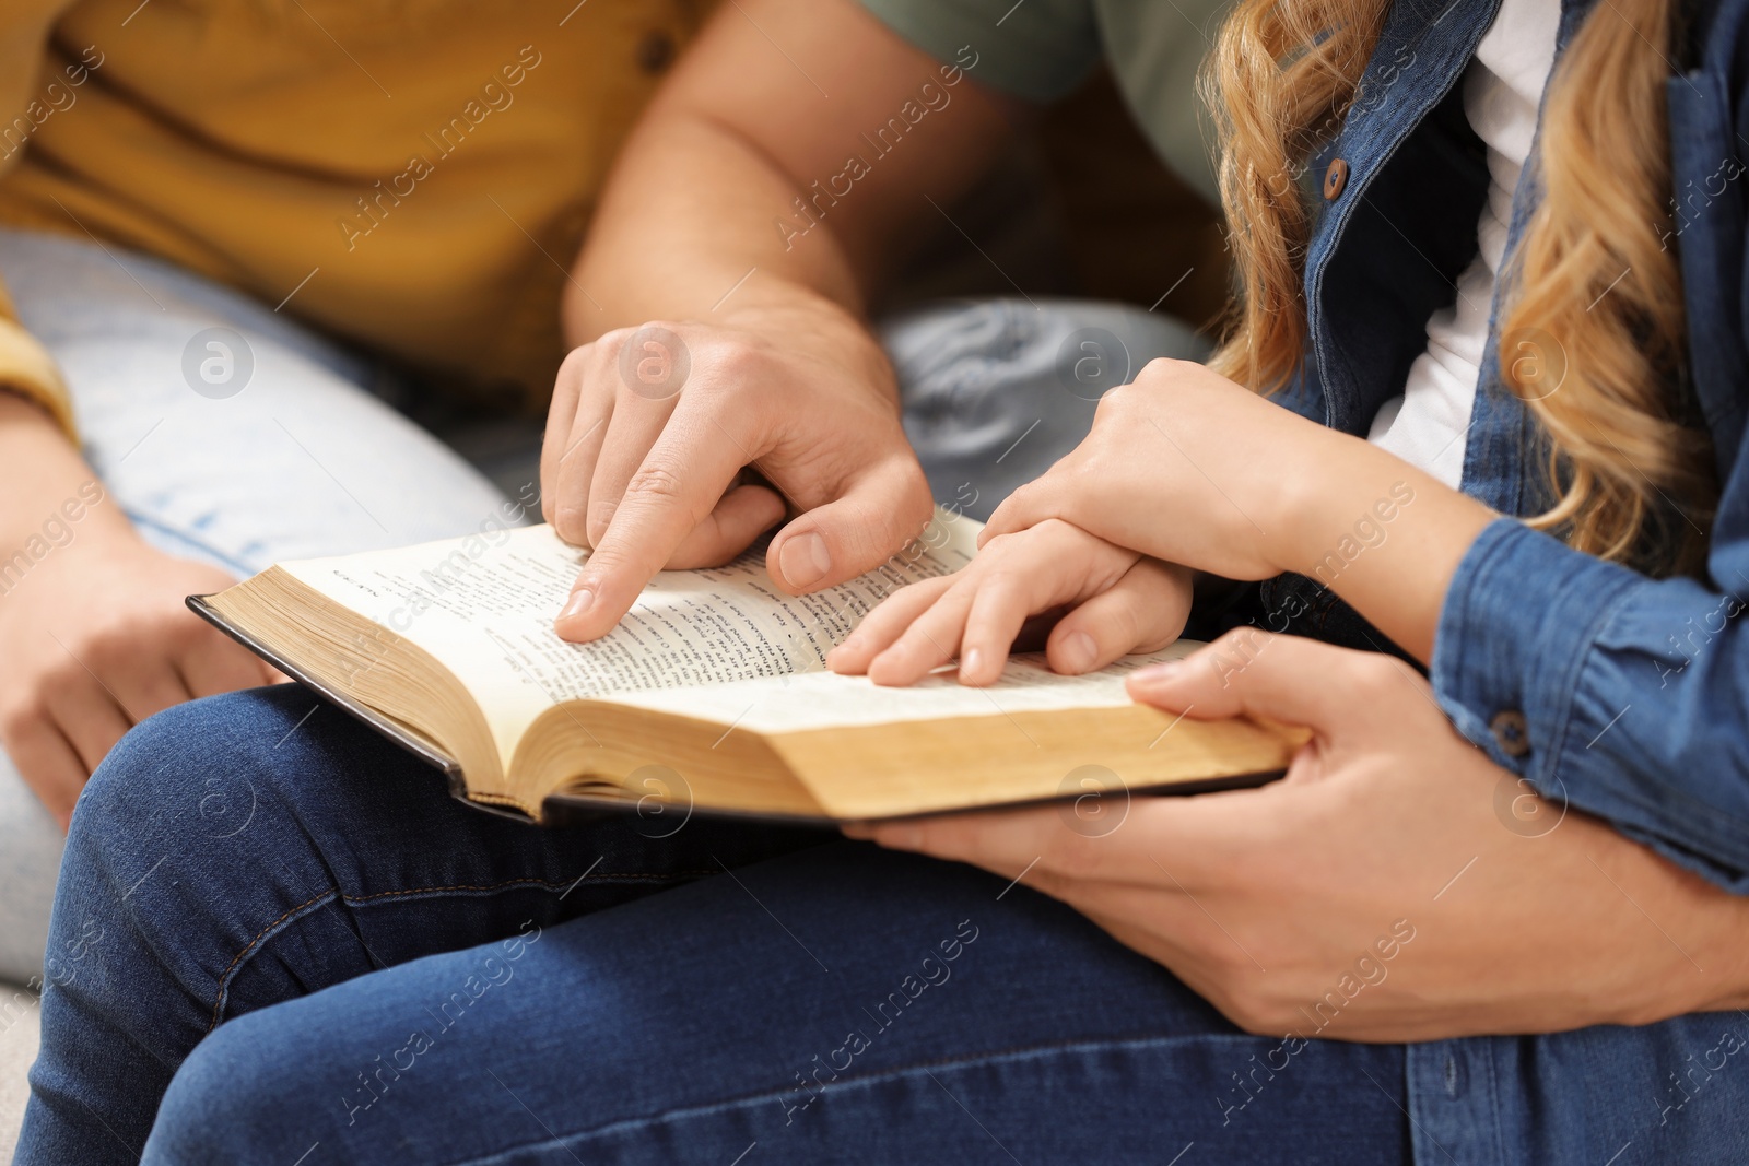
[[[1256,1033],[1431,1040],[1749,1002],[1749,899],[1537,801],[1399,661],[1247,629],[1130,691],[1313,738],[1259,790],[848,832],[1018,876]]]

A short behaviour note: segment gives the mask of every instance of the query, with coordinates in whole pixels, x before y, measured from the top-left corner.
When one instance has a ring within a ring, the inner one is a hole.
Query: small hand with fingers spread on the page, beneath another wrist
[[[1046,642],[1060,673],[1104,668],[1179,638],[1191,573],[1049,519],[990,538],[960,572],[901,587],[826,657],[838,673],[906,685],[960,657],[960,684],[1002,677],[1027,619],[1070,608]]]

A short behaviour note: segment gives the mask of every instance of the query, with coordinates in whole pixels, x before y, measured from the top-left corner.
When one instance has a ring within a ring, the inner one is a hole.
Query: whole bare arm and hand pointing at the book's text
[[[1009,140],[1016,110],[985,73],[974,45],[937,61],[855,0],[717,5],[619,152],[567,283],[582,348],[540,481],[547,519],[595,554],[561,636],[607,633],[652,573],[722,563],[785,512],[768,566],[792,593],[923,528],[866,315]],[[864,135],[899,110],[904,149],[874,154]]]

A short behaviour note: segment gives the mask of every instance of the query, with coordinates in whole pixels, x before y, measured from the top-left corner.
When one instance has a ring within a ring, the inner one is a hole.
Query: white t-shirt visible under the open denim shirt
[[[1494,280],[1506,255],[1513,191],[1530,156],[1537,107],[1555,63],[1560,0],[1502,0],[1464,72],[1464,115],[1488,147],[1488,201],[1478,253],[1457,278],[1457,299],[1427,318],[1427,351],[1410,365],[1401,397],[1380,406],[1366,435],[1446,486],[1464,474],[1469,414],[1488,341]]]

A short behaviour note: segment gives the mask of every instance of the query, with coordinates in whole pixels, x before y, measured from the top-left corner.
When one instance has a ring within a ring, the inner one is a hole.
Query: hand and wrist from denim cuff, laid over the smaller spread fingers
[[[1154,360],[983,538],[1053,517],[1226,579],[1308,575],[1427,661],[1452,575],[1495,514],[1200,364]]]

